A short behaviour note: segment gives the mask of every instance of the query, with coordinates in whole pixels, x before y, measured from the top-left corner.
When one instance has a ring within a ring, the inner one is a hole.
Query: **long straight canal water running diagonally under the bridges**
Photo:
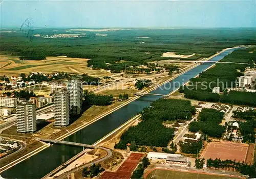
[[[236,48],[237,49],[237,48]],[[219,61],[226,55],[233,52],[235,49],[229,49],[220,55],[212,58],[210,61]],[[178,76],[174,80],[163,84],[151,93],[155,94],[169,94],[180,85],[188,82],[199,73],[210,67],[211,63],[201,64],[184,74]],[[138,114],[143,108],[150,106],[150,104],[159,99],[161,96],[145,95],[139,99],[134,100],[132,103],[120,108],[119,110],[103,117],[100,120],[84,127],[84,129],[74,133],[73,135],[65,138],[66,141],[79,142],[85,144],[93,144],[105,135],[115,130],[118,126],[131,119]],[[82,151],[81,147],[68,146],[68,145],[52,145],[31,158],[18,163],[17,165],[9,168],[1,173],[4,178],[41,178],[52,170],[65,163],[75,155]]]

